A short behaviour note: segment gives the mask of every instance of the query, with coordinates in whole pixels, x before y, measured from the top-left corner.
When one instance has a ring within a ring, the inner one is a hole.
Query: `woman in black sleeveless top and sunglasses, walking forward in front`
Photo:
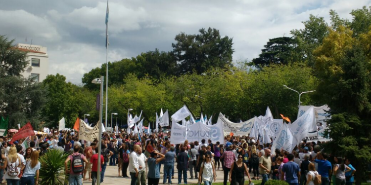
[[[231,185],[244,185],[245,173],[249,178],[249,184],[251,183],[250,174],[247,171],[247,166],[243,162],[243,155],[238,154],[237,161],[233,162],[231,166],[230,183]],[[215,178],[214,178],[215,181]]]

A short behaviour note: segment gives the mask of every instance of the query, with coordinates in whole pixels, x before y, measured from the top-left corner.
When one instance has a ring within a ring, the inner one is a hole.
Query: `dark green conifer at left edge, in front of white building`
[[[18,50],[13,40],[0,36],[0,114],[9,116],[9,128],[30,121],[38,129],[43,121],[46,90],[22,76],[27,65],[27,53]]]

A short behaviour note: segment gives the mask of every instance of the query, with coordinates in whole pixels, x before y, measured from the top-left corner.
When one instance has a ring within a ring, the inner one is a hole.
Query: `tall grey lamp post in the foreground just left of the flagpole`
[[[102,139],[101,139],[101,136],[102,136],[102,117],[103,117],[103,81],[104,81],[104,77],[103,76],[100,76],[100,78],[95,78],[93,79],[92,83],[94,84],[100,84],[100,100],[99,100],[99,125],[98,125],[98,128],[99,128],[99,134],[98,134],[98,170],[100,170],[100,153],[101,153],[101,146],[102,146]],[[100,172],[100,171],[99,171]],[[100,173],[97,173],[96,175],[96,179],[97,179],[97,182],[96,182],[96,185],[100,185]]]

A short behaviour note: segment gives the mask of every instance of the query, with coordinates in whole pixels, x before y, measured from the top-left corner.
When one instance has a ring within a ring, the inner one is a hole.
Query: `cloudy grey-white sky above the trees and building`
[[[106,61],[106,5],[106,0],[1,0],[0,35],[46,46],[49,74],[81,84],[84,73]],[[251,60],[269,38],[303,28],[309,14],[328,21],[334,9],[351,19],[351,10],[364,5],[371,0],[110,0],[108,59],[170,51],[180,32],[212,27],[233,37],[233,60]]]

